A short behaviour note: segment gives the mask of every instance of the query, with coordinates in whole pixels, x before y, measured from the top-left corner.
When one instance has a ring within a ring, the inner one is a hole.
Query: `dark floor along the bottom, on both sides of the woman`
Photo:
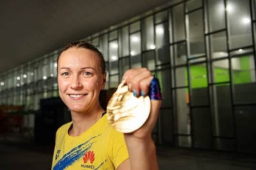
[[[52,145],[0,138],[0,170],[50,170]],[[256,155],[157,147],[160,170],[256,170]]]

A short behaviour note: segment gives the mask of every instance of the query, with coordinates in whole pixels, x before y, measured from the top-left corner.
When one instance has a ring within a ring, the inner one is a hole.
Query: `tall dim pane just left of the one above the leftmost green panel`
[[[177,5],[173,8],[173,29],[174,42],[185,39],[184,26],[184,4]]]

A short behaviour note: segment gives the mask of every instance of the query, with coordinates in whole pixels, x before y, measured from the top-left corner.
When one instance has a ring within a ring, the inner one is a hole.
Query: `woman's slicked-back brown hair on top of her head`
[[[105,64],[105,60],[104,60],[104,57],[103,57],[102,53],[100,52],[100,50],[98,48],[96,48],[92,44],[89,44],[85,41],[76,41],[76,42],[68,43],[64,48],[62,48],[61,53],[57,58],[57,64],[59,63],[59,58],[60,58],[61,54],[64,51],[68,50],[69,48],[73,48],[73,47],[90,49],[90,50],[94,51],[95,53],[97,53],[97,55],[99,57],[99,60],[100,60],[100,65],[101,65],[101,68],[102,68],[102,74],[105,73],[106,64]],[[57,65],[57,73],[58,73],[58,65]]]

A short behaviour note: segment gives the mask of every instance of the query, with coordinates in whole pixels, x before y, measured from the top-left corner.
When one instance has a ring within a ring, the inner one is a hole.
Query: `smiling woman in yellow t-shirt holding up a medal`
[[[62,101],[69,107],[72,122],[56,132],[53,170],[157,170],[151,132],[161,100],[151,100],[151,113],[143,126],[132,133],[115,131],[99,104],[106,82],[101,52],[85,42],[64,47],[58,58],[58,85]],[[130,69],[123,78],[135,96],[146,95],[153,76],[146,68]]]

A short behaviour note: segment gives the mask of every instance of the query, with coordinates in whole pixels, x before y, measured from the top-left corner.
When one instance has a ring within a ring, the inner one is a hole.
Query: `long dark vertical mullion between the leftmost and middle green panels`
[[[204,32],[206,32],[205,30],[206,30],[206,28],[205,28],[205,20],[207,19],[207,22],[206,23],[208,23],[208,18],[207,17],[205,17],[205,12],[207,12],[207,10],[206,10],[206,8],[207,8],[207,6],[206,6],[206,4],[205,4],[205,0],[202,0],[202,6],[203,6],[203,26],[204,26]],[[207,15],[208,16],[208,15]],[[204,38],[205,38],[205,57],[206,57],[206,75],[207,75],[207,93],[208,93],[208,105],[209,105],[209,109],[210,109],[210,111],[211,111],[211,109],[212,109],[212,106],[211,106],[211,94],[210,94],[210,86],[209,86],[209,70],[208,70],[208,68],[209,68],[209,62],[208,62],[208,57],[207,57],[207,53],[209,54],[209,51],[208,51],[208,48],[209,48],[209,46],[207,47],[207,38],[206,38],[206,35],[204,35]],[[211,64],[210,64],[210,66],[211,66]],[[211,74],[212,72],[210,72],[210,74]],[[211,138],[213,138],[213,123],[212,123],[212,115],[211,115],[211,112],[209,113],[210,114],[210,130],[211,130]],[[214,141],[213,140],[211,140],[211,148],[214,148]]]

